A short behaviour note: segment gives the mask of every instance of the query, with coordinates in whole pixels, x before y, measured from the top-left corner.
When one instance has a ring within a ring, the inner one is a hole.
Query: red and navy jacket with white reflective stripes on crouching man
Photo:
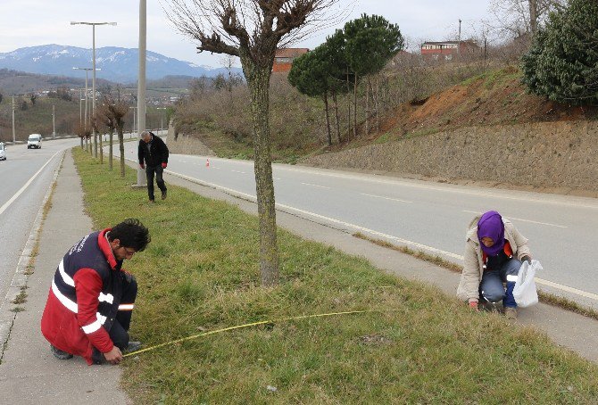
[[[42,334],[54,347],[92,364],[95,347],[106,353],[108,334],[122,297],[122,260],[116,260],[105,235],[94,232],[75,244],[54,274],[41,319]],[[123,307],[124,308],[124,307]]]

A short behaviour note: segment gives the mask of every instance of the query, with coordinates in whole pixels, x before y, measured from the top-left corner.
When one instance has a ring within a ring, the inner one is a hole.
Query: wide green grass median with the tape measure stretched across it
[[[281,283],[260,288],[253,216],[176,186],[149,205],[129,186],[134,170],[120,179],[74,154],[96,227],[135,216],[151,230],[148,249],[125,265],[139,283],[132,334],[147,345],[263,319],[396,310],[257,326],[129,358],[123,384],[136,403],[590,403],[598,395],[598,367],[544,335],[286,231]]]

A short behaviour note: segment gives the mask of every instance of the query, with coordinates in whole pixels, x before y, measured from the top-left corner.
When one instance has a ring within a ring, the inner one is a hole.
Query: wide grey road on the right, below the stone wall
[[[137,145],[126,145],[137,159]],[[172,155],[168,171],[233,194],[255,195],[253,162]],[[274,165],[278,208],[333,227],[440,254],[460,262],[469,221],[496,210],[530,241],[545,291],[598,306],[598,201],[474,186],[454,186],[338,170]]]

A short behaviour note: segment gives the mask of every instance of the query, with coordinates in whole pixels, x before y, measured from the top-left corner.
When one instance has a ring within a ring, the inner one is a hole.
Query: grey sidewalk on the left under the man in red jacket
[[[56,266],[73,244],[92,230],[83,211],[83,191],[71,152],[62,162],[52,208],[39,235],[35,272],[27,281],[27,302],[20,306],[0,364],[0,403],[124,404],[121,369],[87,366],[80,357],[57,360],[41,335],[39,321]],[[15,305],[9,304],[10,307]]]

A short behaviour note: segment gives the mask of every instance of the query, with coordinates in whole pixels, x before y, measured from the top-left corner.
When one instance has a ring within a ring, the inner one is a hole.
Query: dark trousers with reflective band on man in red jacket
[[[122,273],[122,298],[120,299],[119,310],[116,312],[116,318],[114,318],[112,326],[108,330],[112,343],[121,351],[129,345],[129,326],[133,316],[132,306],[135,304],[136,298],[137,280],[128,273]],[[92,357],[96,364],[100,364],[104,356],[94,348]]]

